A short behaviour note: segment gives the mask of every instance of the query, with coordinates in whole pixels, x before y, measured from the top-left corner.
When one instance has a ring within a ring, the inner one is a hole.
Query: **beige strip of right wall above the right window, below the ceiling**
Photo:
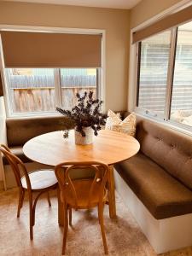
[[[131,28],[138,26],[143,21],[160,14],[162,11],[169,9],[172,5],[183,2],[181,0],[143,0],[131,9]],[[185,1],[186,2],[186,1]]]

